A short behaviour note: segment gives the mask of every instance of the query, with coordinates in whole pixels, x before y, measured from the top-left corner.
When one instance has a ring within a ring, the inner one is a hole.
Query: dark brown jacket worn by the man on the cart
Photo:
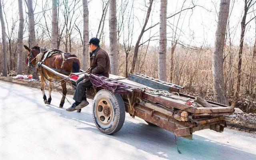
[[[105,50],[98,47],[93,52],[90,52],[90,68],[88,72],[109,77],[110,60]]]

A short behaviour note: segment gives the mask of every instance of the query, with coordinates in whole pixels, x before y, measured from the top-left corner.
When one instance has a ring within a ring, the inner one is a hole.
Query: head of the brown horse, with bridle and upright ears
[[[36,66],[36,56],[40,53],[40,47],[34,46],[30,49],[24,45],[24,48],[28,51],[26,64],[28,64],[28,67],[34,68]]]

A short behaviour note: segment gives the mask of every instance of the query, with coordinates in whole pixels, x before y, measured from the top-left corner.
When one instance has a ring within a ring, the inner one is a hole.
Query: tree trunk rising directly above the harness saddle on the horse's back
[[[57,0],[52,0],[52,48],[57,48],[58,40],[58,19],[57,19]]]

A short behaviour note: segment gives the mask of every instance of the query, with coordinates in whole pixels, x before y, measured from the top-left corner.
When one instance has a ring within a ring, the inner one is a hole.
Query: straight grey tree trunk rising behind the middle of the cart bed
[[[166,81],[166,17],[167,0],[160,1],[160,28],[159,28],[159,51],[158,51],[158,78]]]

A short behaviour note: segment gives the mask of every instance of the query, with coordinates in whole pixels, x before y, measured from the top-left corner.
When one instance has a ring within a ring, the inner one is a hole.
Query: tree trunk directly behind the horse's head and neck
[[[28,7],[28,28],[29,28],[29,42],[30,47],[36,46],[36,34],[35,34],[35,22],[34,22],[34,10],[32,0],[28,0],[27,2]],[[32,76],[34,79],[39,79],[38,75],[36,74],[36,69],[32,70]]]

